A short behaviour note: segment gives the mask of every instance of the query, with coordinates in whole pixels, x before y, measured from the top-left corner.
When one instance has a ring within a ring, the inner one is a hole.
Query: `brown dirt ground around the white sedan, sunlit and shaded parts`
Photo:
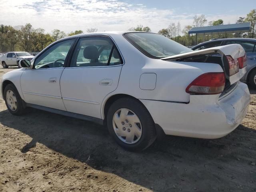
[[[0,68],[0,76],[15,68]],[[0,191],[256,192],[256,90],[248,114],[224,138],[166,136],[127,152],[106,127],[0,99]]]

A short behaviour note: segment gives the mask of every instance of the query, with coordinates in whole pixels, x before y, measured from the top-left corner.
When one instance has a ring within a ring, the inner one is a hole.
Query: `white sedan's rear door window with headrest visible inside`
[[[80,38],[70,67],[113,66],[122,64],[116,46],[107,37]]]

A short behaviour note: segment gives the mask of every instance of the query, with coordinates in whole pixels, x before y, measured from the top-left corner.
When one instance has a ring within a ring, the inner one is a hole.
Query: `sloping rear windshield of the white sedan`
[[[160,59],[193,51],[182,44],[155,33],[126,33],[124,37],[150,58]]]

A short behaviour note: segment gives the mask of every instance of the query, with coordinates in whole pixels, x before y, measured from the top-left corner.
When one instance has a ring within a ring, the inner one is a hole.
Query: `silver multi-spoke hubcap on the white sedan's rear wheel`
[[[122,108],[115,112],[113,128],[118,138],[127,144],[134,144],[140,140],[142,125],[138,116],[129,109]]]

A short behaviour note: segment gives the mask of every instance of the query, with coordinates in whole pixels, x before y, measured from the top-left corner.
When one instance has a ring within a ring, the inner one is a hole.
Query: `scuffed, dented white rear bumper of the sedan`
[[[250,93],[238,83],[228,96],[190,96],[189,104],[140,100],[165,134],[196,138],[220,138],[232,132],[247,113]]]

